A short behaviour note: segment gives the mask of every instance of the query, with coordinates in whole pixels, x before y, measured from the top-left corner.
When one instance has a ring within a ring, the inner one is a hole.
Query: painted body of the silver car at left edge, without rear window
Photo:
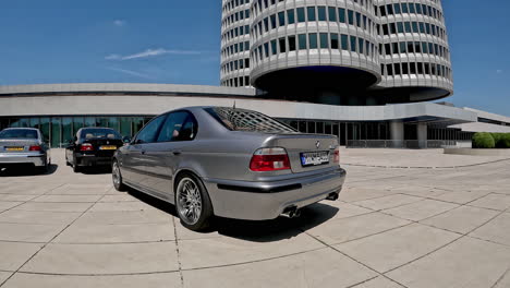
[[[8,128],[3,131],[37,133],[37,139],[0,139],[0,167],[19,164],[45,167],[51,161],[50,148],[38,129]],[[40,151],[29,151],[31,146],[39,146]]]

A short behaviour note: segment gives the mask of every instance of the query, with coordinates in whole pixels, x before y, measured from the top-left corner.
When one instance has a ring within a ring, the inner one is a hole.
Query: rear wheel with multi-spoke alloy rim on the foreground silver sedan
[[[193,231],[206,230],[214,213],[202,180],[195,175],[182,173],[175,181],[174,192],[175,211],[182,226]]]

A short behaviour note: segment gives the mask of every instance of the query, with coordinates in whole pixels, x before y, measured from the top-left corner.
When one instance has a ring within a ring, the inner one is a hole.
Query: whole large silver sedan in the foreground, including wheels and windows
[[[116,152],[112,179],[175,205],[181,223],[265,220],[337,200],[345,170],[333,135],[304,134],[256,111],[191,107],[153,119]]]

